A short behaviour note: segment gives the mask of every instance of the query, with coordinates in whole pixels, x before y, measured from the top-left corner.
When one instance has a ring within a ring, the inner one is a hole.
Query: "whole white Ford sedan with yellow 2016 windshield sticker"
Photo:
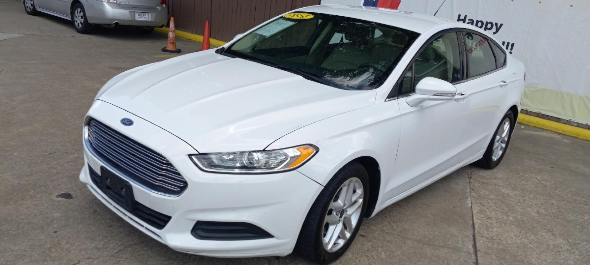
[[[363,218],[503,159],[525,70],[479,28],[312,6],[126,71],[84,121],[80,181],[185,253],[329,263]]]

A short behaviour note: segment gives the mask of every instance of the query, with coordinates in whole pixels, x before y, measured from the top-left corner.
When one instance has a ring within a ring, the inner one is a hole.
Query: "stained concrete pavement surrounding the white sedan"
[[[31,17],[0,0],[0,264],[303,264],[297,254],[178,253],[78,181],[81,123],[116,74],[166,57],[166,37]],[[200,45],[178,40],[183,51]],[[366,220],[337,264],[589,264],[590,142],[518,126],[491,171],[471,166]]]

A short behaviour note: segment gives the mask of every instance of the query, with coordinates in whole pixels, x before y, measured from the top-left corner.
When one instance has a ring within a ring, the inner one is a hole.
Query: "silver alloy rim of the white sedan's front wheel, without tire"
[[[322,244],[328,252],[342,248],[360,219],[363,184],[359,178],[345,181],[332,198],[323,222]]]

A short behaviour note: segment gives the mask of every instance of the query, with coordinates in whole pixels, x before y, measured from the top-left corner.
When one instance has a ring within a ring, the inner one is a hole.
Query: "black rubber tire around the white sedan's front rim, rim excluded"
[[[346,241],[338,250],[330,253],[324,248],[322,243],[322,238],[324,236],[324,218],[326,217],[330,204],[332,204],[332,199],[335,198],[336,193],[340,191],[340,186],[352,178],[360,179],[360,182],[363,185],[363,204],[362,209],[360,210],[360,217],[353,232],[350,234],[348,241]],[[362,225],[363,219],[365,218],[368,204],[369,176],[360,163],[348,163],[343,166],[336,175],[334,175],[330,182],[328,182],[307,213],[307,217],[301,227],[299,238],[297,239],[296,248],[299,253],[306,259],[321,264],[332,263],[342,257],[348,247],[350,247],[352,241],[355,240],[360,225]]]

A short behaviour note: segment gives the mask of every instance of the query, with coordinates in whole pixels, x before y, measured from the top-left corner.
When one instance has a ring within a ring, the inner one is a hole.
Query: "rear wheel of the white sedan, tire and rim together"
[[[504,117],[502,117],[500,124],[496,128],[483,158],[474,162],[474,165],[487,169],[493,169],[499,165],[508,150],[508,144],[510,143],[512,131],[514,130],[513,126],[514,114],[509,110],[504,114]]]

